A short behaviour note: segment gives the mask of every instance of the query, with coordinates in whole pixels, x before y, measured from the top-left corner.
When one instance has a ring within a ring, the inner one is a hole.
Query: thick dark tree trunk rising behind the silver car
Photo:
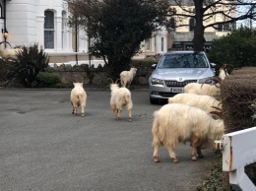
[[[194,0],[194,4],[196,25],[194,28],[193,47],[194,51],[203,51],[204,43],[206,41],[204,37],[205,27],[203,25],[203,0]]]

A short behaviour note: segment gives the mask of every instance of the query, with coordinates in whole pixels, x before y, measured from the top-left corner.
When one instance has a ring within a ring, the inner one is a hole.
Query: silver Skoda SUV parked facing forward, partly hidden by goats
[[[189,83],[202,83],[215,76],[216,64],[210,63],[205,52],[169,51],[163,54],[149,78],[150,101],[157,103],[183,93]]]

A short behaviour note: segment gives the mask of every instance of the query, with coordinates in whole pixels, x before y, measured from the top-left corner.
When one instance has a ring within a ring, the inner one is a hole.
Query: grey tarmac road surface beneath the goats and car
[[[132,122],[115,120],[109,91],[87,91],[86,116],[71,114],[70,91],[0,90],[1,191],[191,191],[209,168],[190,159],[189,146],[172,163],[152,148],[147,91],[132,91]]]

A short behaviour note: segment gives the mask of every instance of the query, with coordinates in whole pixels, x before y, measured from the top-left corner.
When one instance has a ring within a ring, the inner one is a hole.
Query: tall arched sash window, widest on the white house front
[[[44,12],[44,48],[54,48],[54,13]]]

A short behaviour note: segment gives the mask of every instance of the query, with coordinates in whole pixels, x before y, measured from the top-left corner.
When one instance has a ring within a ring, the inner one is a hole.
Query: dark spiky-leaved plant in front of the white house
[[[44,72],[48,67],[49,58],[38,45],[22,46],[17,53],[17,58],[13,64],[12,72],[18,81],[25,87],[32,87],[39,72]]]

